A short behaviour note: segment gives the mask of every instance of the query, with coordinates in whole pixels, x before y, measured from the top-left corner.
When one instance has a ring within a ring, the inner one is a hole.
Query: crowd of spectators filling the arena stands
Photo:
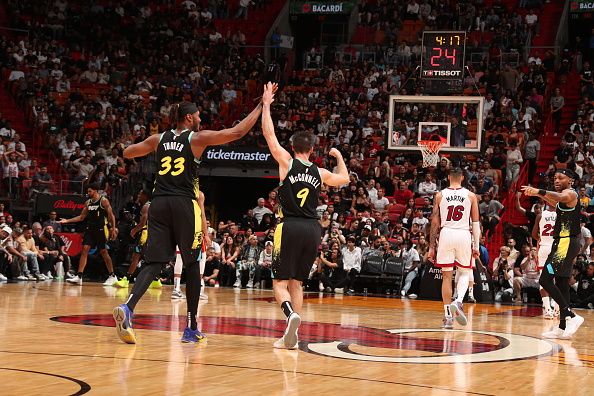
[[[152,1],[111,7],[67,0],[8,2],[14,27],[30,29],[30,35],[2,38],[0,62],[18,102],[31,109],[34,122],[47,136],[48,147],[73,182],[96,182],[110,194],[139,169],[150,180],[154,169],[145,166],[150,159],[126,161],[122,151],[126,145],[169,127],[172,103],[195,102],[203,127],[213,128],[251,106],[247,99],[266,75],[266,64],[259,56],[243,56],[245,36],[241,31],[226,37],[216,31],[213,18],[247,15],[241,8],[237,14],[230,14],[225,3],[186,1],[175,6],[173,2]],[[261,2],[257,3],[261,6]],[[273,108],[279,141],[288,145],[293,131],[309,130],[317,139],[312,161],[332,169],[335,163],[327,152],[337,147],[351,174],[348,185],[325,189],[320,199],[318,214],[324,236],[320,256],[312,263],[309,289],[352,292],[359,285],[358,275],[365,272],[366,262],[370,257],[379,257],[404,263],[400,283],[390,289],[413,297],[418,294],[419,274],[427,264],[433,194],[446,186],[451,161],[443,157],[436,167],[423,168],[420,156],[405,157],[387,151],[384,136],[389,122],[389,95],[423,93],[423,85],[412,75],[419,63],[418,37],[410,43],[398,37],[406,21],[420,21],[427,27],[487,33],[488,56],[473,65],[464,81],[471,93],[477,94],[473,92],[477,87],[485,96],[486,148],[481,157],[463,158],[458,165],[466,169],[467,187],[480,197],[486,236],[480,262],[493,271],[498,282],[513,290],[513,276],[522,275],[522,259],[506,259],[507,268],[518,263],[519,270],[516,268],[509,278],[498,276],[504,267],[495,262],[502,260],[491,262],[485,244],[500,222],[502,194],[517,180],[524,162],[529,164],[529,180],[536,182],[539,138],[546,117],[551,112],[557,120],[565,103],[548,78],[555,71],[554,57],[547,54],[545,59],[524,59],[528,33],[538,32],[538,18],[532,10],[508,9],[500,1],[485,10],[481,3],[458,2],[458,6],[450,7],[448,2],[429,0],[406,4],[362,2],[359,23],[385,32],[381,42],[376,43],[374,61],[345,64],[339,57],[325,57],[324,66],[318,70],[294,71],[282,81],[283,89]],[[538,6],[537,2],[527,3],[524,6]],[[471,36],[468,57],[484,51],[482,38]],[[518,54],[517,62],[502,60],[502,54],[510,52]],[[565,65],[563,62],[557,72],[567,73]],[[582,92],[591,98],[589,70],[587,64],[581,67]],[[407,125],[415,116],[411,110],[394,122]],[[43,166],[37,169],[34,160],[27,165],[18,131],[0,122],[7,188],[11,188],[13,177],[30,177],[37,190],[51,190],[47,170],[44,172]],[[560,123],[555,125],[559,129]],[[590,199],[594,197],[591,127],[592,107],[585,97],[570,130],[556,131],[563,134],[563,139],[554,164],[560,166],[572,160],[579,164],[584,193]],[[410,130],[403,127],[402,133],[408,137]],[[265,141],[255,127],[238,144],[263,147]],[[13,176],[17,175],[15,163],[19,166],[18,176]],[[550,174],[539,176],[540,182],[546,177]],[[213,243],[205,274],[208,285],[269,286],[277,206],[272,191],[241,219],[221,221],[211,229]],[[120,226],[130,221],[125,211],[116,215]],[[21,231],[22,225],[5,223],[14,240],[21,238],[15,233]],[[47,227],[40,235],[45,232]],[[514,240],[521,254],[526,252],[530,257],[524,243]],[[35,246],[37,253],[32,250],[34,255],[19,257],[28,263],[19,268],[27,268],[31,276],[23,271],[17,278],[41,279],[48,271],[56,275],[55,260],[49,267],[40,266],[41,256],[47,255],[43,253],[45,245],[40,240]],[[22,253],[22,249],[19,245],[15,252]],[[58,255],[63,254],[60,249]],[[501,249],[502,255],[515,253],[506,250]],[[9,250],[13,258],[15,252]],[[38,259],[36,265],[34,256]]]

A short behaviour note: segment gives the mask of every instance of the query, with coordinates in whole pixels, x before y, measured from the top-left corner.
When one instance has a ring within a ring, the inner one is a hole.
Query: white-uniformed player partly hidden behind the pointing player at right
[[[536,216],[534,227],[532,227],[532,238],[538,241],[538,270],[542,271],[544,264],[551,253],[553,247],[553,229],[555,228],[555,221],[557,220],[557,212],[551,209],[549,205],[545,205],[542,212]],[[555,311],[551,307],[551,299],[549,293],[540,287],[540,295],[542,297],[542,304],[544,306],[544,318],[553,319]]]

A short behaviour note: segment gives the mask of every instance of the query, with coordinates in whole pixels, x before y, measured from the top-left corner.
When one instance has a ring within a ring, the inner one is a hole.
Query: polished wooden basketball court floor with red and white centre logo
[[[185,301],[149,290],[137,345],[111,310],[127,290],[87,283],[0,284],[3,395],[586,395],[594,388],[594,313],[572,341],[539,335],[539,308],[466,304],[469,325],[440,329],[442,305],[311,294],[300,350],[274,350],[284,316],[271,291],[207,289],[208,342],[179,342]]]

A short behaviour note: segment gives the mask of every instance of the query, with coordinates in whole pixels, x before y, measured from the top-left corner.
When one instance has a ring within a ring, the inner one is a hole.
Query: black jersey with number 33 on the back
[[[200,162],[194,158],[190,144],[194,132],[173,130],[161,134],[157,147],[157,174],[153,196],[183,196],[198,198]]]

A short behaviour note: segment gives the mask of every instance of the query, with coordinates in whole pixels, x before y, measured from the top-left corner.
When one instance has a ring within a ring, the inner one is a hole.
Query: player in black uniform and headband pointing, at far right
[[[522,186],[525,195],[540,197],[557,211],[553,247],[542,269],[539,283],[559,305],[560,321],[559,327],[542,334],[545,338],[571,338],[584,322],[584,318],[569,308],[569,277],[581,248],[581,205],[577,193],[571,188],[577,178],[570,169],[557,169],[556,191]]]

